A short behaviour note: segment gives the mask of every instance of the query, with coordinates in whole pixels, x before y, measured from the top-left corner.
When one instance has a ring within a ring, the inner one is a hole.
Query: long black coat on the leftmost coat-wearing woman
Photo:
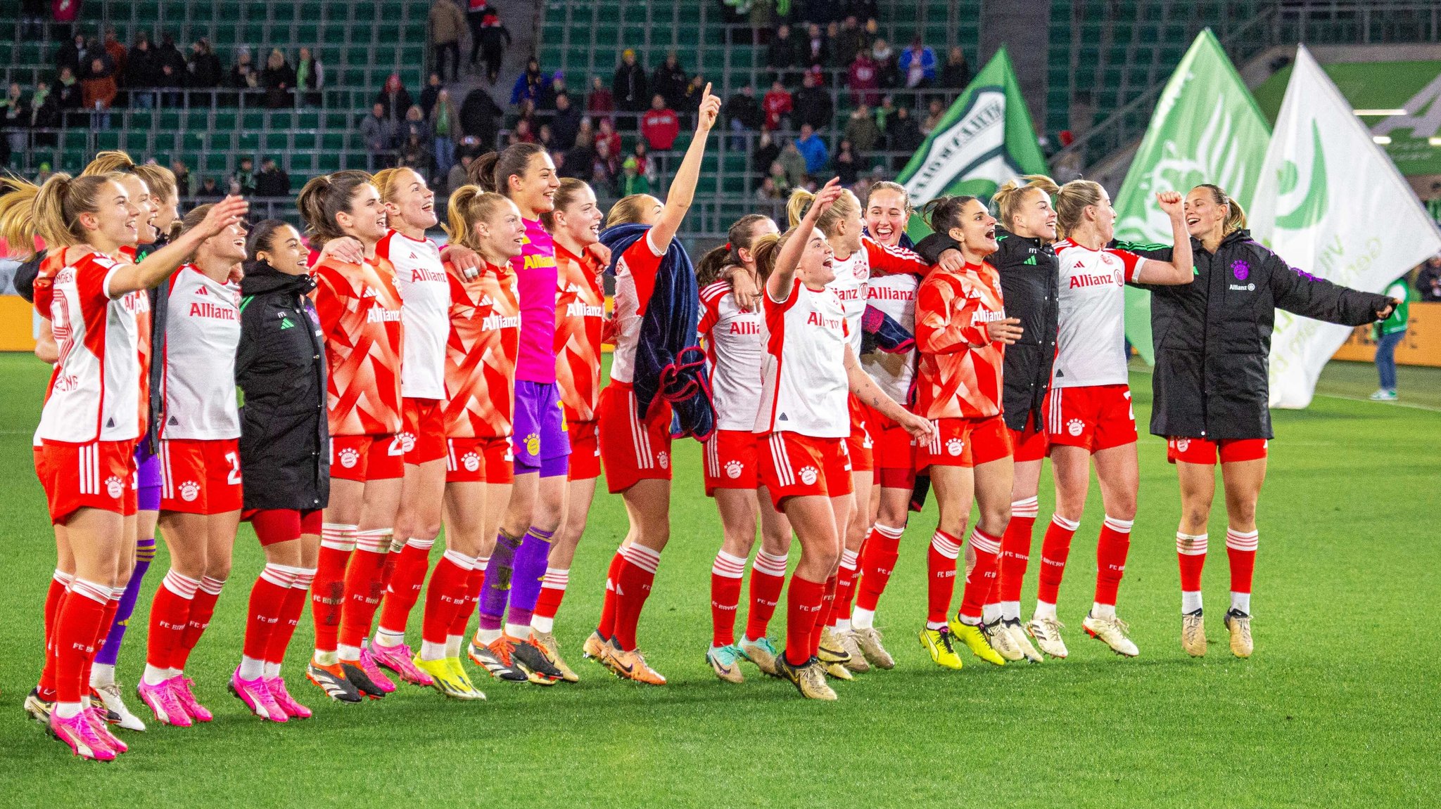
[[[241,407],[245,508],[324,508],[330,502],[326,347],[310,302],[316,281],[246,262],[241,281]]]

